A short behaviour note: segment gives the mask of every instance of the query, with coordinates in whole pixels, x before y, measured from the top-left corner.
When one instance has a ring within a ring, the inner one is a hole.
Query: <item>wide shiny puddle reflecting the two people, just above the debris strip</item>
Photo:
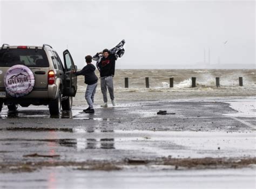
[[[1,160],[29,160],[23,156],[33,153],[48,155],[52,151],[67,161],[168,156],[254,157],[256,153],[254,133],[100,130],[96,129],[98,125],[94,128],[3,129],[0,149],[5,153]]]

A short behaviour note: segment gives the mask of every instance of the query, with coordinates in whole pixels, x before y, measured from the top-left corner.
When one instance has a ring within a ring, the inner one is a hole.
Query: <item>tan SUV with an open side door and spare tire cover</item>
[[[50,45],[9,46],[0,49],[0,112],[7,105],[49,105],[51,115],[71,110],[77,91],[77,70],[68,50],[63,52],[64,65]]]

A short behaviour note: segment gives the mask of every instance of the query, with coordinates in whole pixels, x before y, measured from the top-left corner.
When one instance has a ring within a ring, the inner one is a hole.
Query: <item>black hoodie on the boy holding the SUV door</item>
[[[93,64],[87,64],[81,71],[75,72],[76,76],[83,75],[84,83],[92,85],[98,82],[98,77],[95,75],[95,66]]]

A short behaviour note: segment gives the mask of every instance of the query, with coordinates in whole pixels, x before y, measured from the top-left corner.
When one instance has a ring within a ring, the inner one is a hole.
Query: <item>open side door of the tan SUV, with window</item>
[[[77,92],[77,76],[72,73],[72,70],[76,70],[76,66],[68,50],[63,52],[64,64],[65,64],[65,90],[63,95],[76,96]]]

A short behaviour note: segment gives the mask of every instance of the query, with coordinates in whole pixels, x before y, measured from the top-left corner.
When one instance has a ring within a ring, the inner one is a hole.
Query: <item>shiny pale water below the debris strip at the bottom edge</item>
[[[17,177],[19,176],[19,177]],[[14,182],[15,177],[15,182]],[[23,186],[23,187],[21,187]],[[78,171],[45,168],[32,173],[2,174],[2,188],[255,188],[251,168],[224,170],[121,170]]]

